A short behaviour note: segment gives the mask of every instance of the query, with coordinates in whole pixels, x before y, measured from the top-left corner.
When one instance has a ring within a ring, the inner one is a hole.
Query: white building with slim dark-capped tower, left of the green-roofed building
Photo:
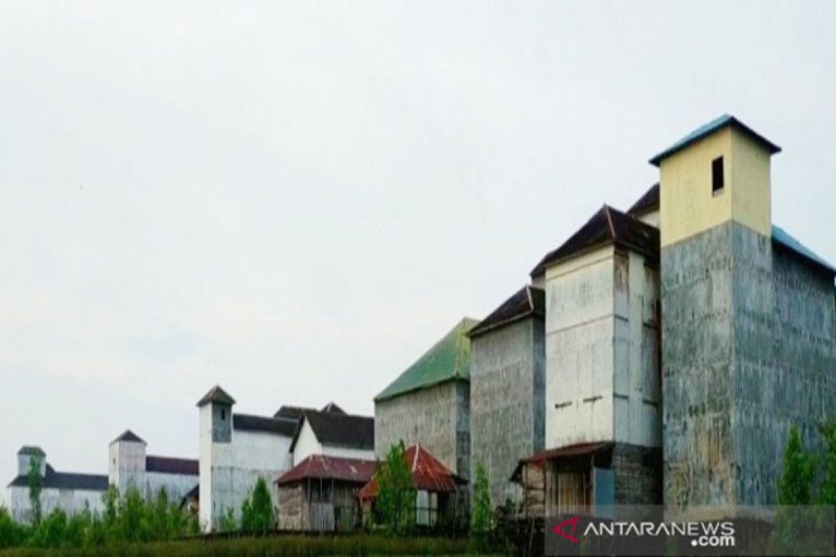
[[[233,412],[235,399],[215,386],[197,403],[200,408],[200,487],[188,504],[197,506],[201,526],[217,529],[263,478],[278,511],[276,480],[304,458],[326,454],[374,458],[374,418],[351,416],[330,403],[320,411],[283,406],[273,417]]]

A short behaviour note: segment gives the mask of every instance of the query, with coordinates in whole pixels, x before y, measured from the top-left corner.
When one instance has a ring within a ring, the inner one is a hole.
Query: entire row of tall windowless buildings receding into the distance
[[[456,323],[374,418],[333,404],[248,416],[216,387],[198,403],[199,461],[163,466],[126,433],[109,476],[78,491],[171,481],[212,529],[262,476],[279,527],[348,528],[403,441],[422,524],[466,513],[477,466],[493,503],[527,517],[772,504],[788,429],[816,443],[836,408],[836,270],[772,223],[779,150],[727,115],[686,135],[650,160],[658,184],[595,211],[487,317]]]

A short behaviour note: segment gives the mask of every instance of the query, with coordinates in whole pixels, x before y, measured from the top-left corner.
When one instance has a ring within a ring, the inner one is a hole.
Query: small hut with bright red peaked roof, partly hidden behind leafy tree
[[[452,473],[420,444],[406,449],[412,487],[415,488],[415,524],[419,528],[456,528],[465,524],[467,513],[467,480]],[[380,493],[377,474],[360,489],[358,497],[363,514],[375,514],[375,501]]]

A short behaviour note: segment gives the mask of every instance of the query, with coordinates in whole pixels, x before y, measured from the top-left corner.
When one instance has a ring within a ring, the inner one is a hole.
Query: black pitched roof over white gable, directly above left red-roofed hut
[[[296,447],[299,434],[302,433],[304,423],[310,425],[319,443],[330,447],[358,448],[361,450],[375,449],[375,418],[339,414],[333,412],[317,412],[306,410],[302,413],[290,450]]]

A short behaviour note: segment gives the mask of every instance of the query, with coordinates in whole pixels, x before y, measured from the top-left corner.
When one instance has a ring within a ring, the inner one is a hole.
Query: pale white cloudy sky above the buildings
[[[836,3],[0,6],[0,481],[371,398],[718,114],[836,261]]]

